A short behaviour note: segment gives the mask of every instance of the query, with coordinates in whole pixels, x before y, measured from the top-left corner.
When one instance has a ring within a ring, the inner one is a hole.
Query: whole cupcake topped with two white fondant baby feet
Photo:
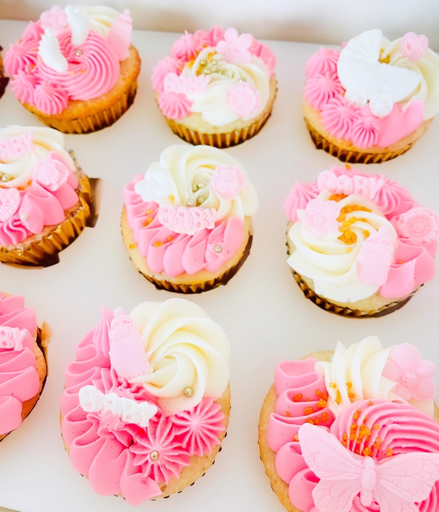
[[[130,11],[52,7],[5,56],[12,92],[40,121],[64,133],[95,132],[127,111],[140,58]]]

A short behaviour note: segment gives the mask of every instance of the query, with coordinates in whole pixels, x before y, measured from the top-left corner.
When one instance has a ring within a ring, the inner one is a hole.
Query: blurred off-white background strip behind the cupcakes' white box
[[[0,0],[0,19],[38,19],[54,3],[128,8],[144,30],[233,26],[266,39],[338,45],[363,30],[380,28],[389,39],[413,31],[439,51],[438,0]]]

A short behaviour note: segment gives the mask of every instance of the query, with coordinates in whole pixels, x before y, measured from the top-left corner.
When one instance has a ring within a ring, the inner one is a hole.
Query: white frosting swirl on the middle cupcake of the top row
[[[207,60],[208,55],[213,54],[212,59],[218,63],[212,67],[209,75],[209,82],[206,91],[203,94],[188,94],[194,103],[191,107],[192,112],[201,113],[201,118],[214,126],[223,126],[241,119],[236,113],[232,112],[227,102],[227,92],[229,88],[238,83],[239,80],[245,81],[258,91],[260,103],[258,110],[250,117],[242,118],[244,121],[258,116],[268,102],[270,75],[267,66],[259,57],[252,55],[252,60],[244,64],[232,64],[221,59],[221,54],[217,53],[215,48],[209,47],[202,50],[193,66],[185,66],[182,75],[196,76],[199,70],[201,60]]]

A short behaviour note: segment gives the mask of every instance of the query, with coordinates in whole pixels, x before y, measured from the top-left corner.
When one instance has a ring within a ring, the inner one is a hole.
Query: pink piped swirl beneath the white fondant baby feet
[[[119,61],[108,42],[96,32],[89,32],[86,42],[80,47],[71,44],[71,31],[58,35],[61,53],[67,58],[66,73],[57,73],[38,61],[38,73],[42,80],[59,84],[69,98],[86,101],[98,98],[110,91],[120,72]],[[76,55],[77,51],[82,52]]]

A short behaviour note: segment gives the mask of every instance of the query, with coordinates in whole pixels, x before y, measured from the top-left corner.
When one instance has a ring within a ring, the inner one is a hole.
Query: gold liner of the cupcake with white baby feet
[[[134,98],[137,93],[137,81],[133,82],[130,87],[123,93],[119,100],[100,112],[96,112],[90,116],[80,117],[71,120],[59,120],[51,116],[45,116],[41,113],[35,112],[31,105],[25,104],[24,106],[36,117],[62,133],[70,134],[84,134],[102,130],[115,123],[133,104]]]

